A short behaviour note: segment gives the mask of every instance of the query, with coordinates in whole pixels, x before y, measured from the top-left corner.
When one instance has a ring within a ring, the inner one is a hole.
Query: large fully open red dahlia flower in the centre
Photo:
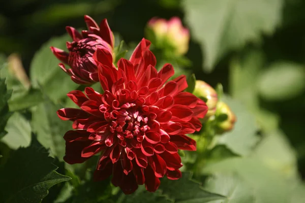
[[[185,76],[166,82],[174,75],[171,64],[157,72],[149,45],[143,39],[130,60],[118,61],[118,69],[111,53],[98,49],[93,58],[105,93],[91,87],[85,94],[71,91],[68,96],[80,109],[57,111],[59,118],[74,121],[75,130],[64,136],[64,160],[81,163],[101,153],[94,179],[112,174],[113,185],[126,194],[142,184],[154,192],[165,175],[181,177],[178,149],[196,150],[196,142],[185,134],[200,130],[198,118],[207,112],[201,99],[183,92],[188,86]]]

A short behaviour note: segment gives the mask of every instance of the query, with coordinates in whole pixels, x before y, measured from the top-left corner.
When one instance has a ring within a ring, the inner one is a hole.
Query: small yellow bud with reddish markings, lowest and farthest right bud
[[[230,109],[230,107],[223,101],[217,104],[217,132],[223,133],[233,129],[236,122],[236,116]]]

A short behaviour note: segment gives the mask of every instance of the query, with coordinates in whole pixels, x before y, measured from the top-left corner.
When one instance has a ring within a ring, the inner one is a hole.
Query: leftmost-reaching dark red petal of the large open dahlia
[[[88,118],[88,113],[74,108],[63,108],[59,109],[57,112],[57,116],[62,120],[76,120],[76,119],[84,119]]]

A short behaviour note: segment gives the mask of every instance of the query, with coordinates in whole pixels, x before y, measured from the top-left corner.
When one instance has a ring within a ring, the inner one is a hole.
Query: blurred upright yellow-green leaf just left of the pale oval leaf
[[[277,129],[279,116],[260,107],[257,80],[264,66],[264,55],[259,50],[247,50],[230,63],[230,94],[255,114],[262,129],[270,132]]]

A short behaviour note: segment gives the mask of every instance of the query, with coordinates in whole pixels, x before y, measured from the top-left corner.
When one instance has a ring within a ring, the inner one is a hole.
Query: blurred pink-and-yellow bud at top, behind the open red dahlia
[[[162,18],[153,18],[149,20],[148,29],[153,31],[154,39],[147,36],[149,40],[155,41],[158,48],[171,47],[176,55],[183,55],[189,50],[190,32],[182,25],[178,17],[172,17],[170,20]]]

